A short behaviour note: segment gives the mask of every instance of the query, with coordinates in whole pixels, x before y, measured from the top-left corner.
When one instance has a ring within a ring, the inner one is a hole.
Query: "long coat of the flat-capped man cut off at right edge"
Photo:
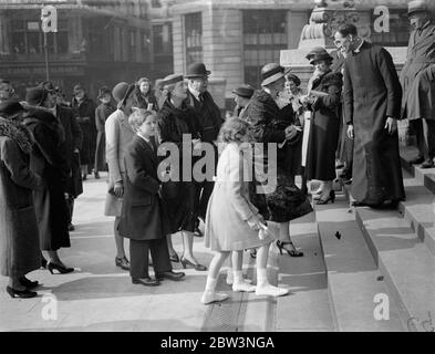
[[[401,73],[403,86],[402,117],[435,119],[435,23],[422,33],[411,32],[406,63]]]

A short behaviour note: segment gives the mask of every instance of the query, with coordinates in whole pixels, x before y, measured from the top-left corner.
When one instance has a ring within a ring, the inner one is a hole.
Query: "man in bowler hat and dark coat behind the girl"
[[[204,63],[191,63],[187,67],[185,77],[187,79],[188,92],[187,103],[197,112],[200,124],[203,126],[201,142],[214,144],[219,135],[220,126],[224,119],[220,115],[220,110],[213,100],[210,93],[207,91],[208,75],[210,71],[206,69]],[[203,155],[204,156],[204,155]],[[215,168],[217,165],[217,147],[215,146]],[[205,220],[208,199],[211,196],[214,187],[213,180],[205,180],[199,184],[198,198],[199,198],[199,217]],[[197,236],[201,232],[197,228]]]

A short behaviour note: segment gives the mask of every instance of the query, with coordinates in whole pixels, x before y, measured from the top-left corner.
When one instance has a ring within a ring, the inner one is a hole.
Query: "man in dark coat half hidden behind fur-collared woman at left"
[[[73,231],[74,225],[72,223],[74,199],[83,192],[82,177],[80,170],[80,149],[82,146],[83,134],[82,129],[75,118],[72,108],[59,103],[58,91],[50,81],[44,81],[39,84],[46,91],[46,100],[41,103],[41,106],[49,108],[60,121],[65,132],[65,142],[63,144],[64,155],[71,174],[66,181],[66,194],[69,205],[69,230]]]

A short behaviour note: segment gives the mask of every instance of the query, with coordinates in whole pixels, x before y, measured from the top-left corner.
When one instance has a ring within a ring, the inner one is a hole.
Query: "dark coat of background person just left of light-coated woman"
[[[95,170],[107,170],[106,164],[106,135],[105,123],[108,116],[116,108],[110,103],[102,103],[95,108],[95,126],[96,126],[96,148],[95,148]]]

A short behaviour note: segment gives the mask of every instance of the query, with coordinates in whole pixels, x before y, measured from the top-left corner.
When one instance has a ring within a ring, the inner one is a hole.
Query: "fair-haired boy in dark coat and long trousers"
[[[128,238],[132,282],[146,287],[159,285],[163,279],[182,280],[185,273],[172,270],[166,235],[170,232],[159,196],[157,147],[152,137],[156,116],[137,110],[128,118],[136,136],[125,155],[126,186],[124,191],[120,235]],[[153,258],[155,278],[148,274],[148,251]]]

